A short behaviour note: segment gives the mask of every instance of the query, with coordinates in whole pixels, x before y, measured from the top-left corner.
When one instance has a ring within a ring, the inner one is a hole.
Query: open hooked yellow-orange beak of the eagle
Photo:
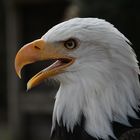
[[[33,76],[27,83],[27,90],[40,84],[48,77],[62,73],[65,68],[73,64],[75,59],[62,54],[60,49],[51,43],[47,43],[43,39],[38,39],[23,46],[18,51],[15,58],[17,75],[21,78],[21,70],[25,65],[43,60],[55,60],[55,62]]]

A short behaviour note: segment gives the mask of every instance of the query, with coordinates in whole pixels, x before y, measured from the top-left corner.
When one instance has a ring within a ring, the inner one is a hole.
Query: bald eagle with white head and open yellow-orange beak
[[[52,138],[61,140],[117,139],[112,122],[130,126],[137,119],[139,67],[130,41],[109,22],[74,18],[51,28],[23,46],[15,69],[54,60],[33,76],[27,89],[45,79],[57,79]]]

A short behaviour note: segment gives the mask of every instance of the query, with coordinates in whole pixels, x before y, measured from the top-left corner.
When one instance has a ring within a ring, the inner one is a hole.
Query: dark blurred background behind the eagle
[[[138,0],[0,0],[0,140],[48,140],[58,84],[26,92],[32,69],[19,80],[16,52],[66,19],[98,17],[115,25],[140,59]],[[34,67],[37,69],[37,67]]]

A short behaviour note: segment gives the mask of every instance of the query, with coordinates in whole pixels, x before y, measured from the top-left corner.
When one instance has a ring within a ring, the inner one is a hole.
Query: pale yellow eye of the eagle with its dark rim
[[[77,42],[74,39],[69,39],[69,40],[64,42],[64,46],[65,46],[65,48],[72,50],[72,49],[75,49],[77,47]]]

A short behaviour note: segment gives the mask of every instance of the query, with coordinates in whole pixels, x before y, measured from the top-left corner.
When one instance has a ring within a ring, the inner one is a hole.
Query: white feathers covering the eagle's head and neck
[[[75,18],[60,23],[43,37],[59,42],[76,38],[79,47],[67,52],[73,65],[54,77],[60,81],[53,112],[52,132],[61,121],[68,132],[85,117],[85,132],[95,138],[115,139],[111,122],[130,125],[137,118],[139,67],[129,40],[112,24],[97,18]],[[62,120],[61,120],[62,119]]]

